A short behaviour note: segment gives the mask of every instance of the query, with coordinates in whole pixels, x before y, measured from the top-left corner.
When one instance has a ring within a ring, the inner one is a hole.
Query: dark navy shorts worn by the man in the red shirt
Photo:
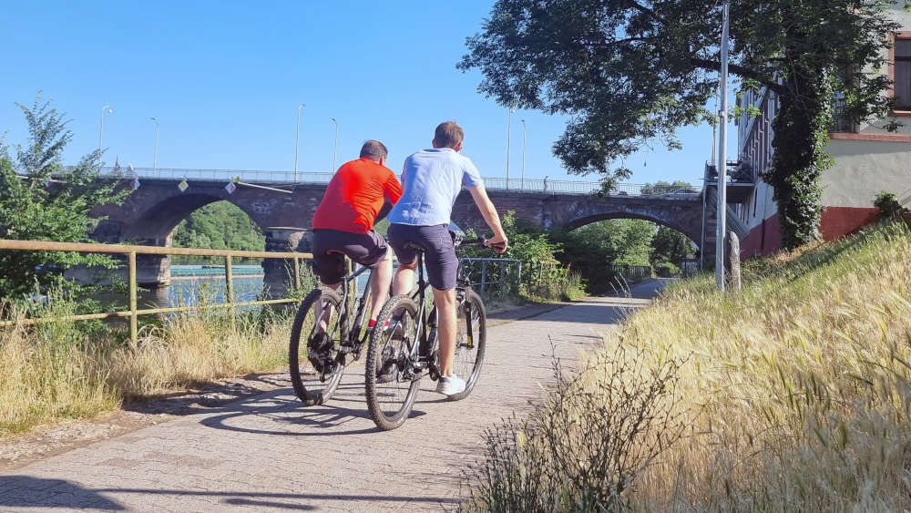
[[[351,233],[338,230],[313,231],[313,263],[320,281],[327,285],[342,282],[344,257],[375,269],[383,262],[387,246],[383,235],[376,231]]]

